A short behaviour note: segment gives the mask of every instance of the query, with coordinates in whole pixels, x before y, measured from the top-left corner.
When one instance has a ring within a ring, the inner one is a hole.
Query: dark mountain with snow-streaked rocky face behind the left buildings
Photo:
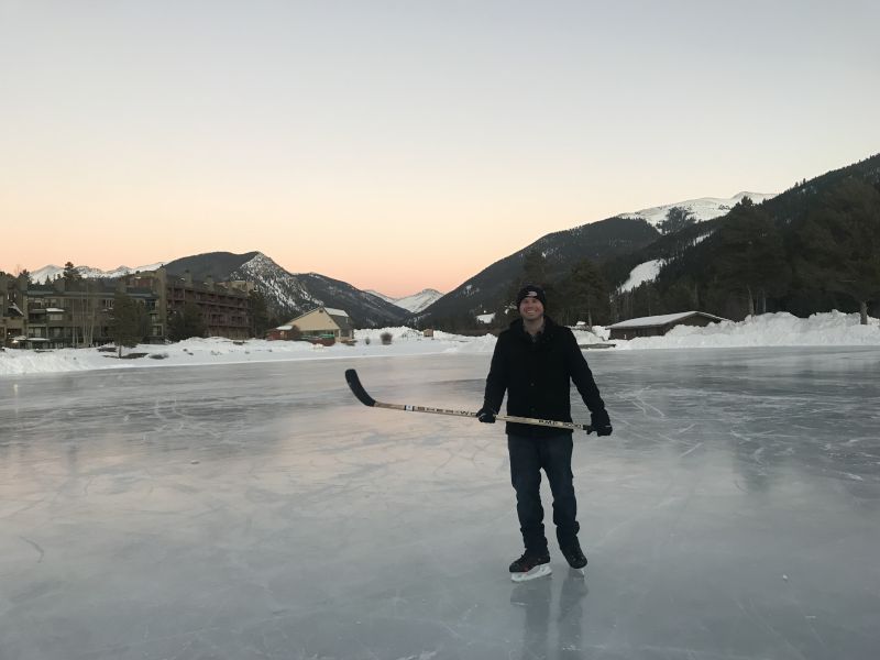
[[[355,326],[398,324],[407,310],[352,285],[317,273],[288,273],[262,252],[233,254],[209,252],[175,260],[165,265],[170,274],[189,271],[195,280],[246,279],[266,298],[271,316],[286,321],[314,307],[343,309]]]

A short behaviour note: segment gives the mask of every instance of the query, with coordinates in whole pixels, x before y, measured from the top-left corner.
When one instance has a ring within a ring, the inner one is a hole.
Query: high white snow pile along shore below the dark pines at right
[[[859,324],[859,315],[828,311],[801,319],[788,312],[722,321],[705,328],[676,326],[663,337],[614,340],[618,349],[880,345],[880,321]]]

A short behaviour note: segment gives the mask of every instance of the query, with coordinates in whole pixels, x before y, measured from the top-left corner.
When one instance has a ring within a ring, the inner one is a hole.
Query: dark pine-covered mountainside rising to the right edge
[[[603,264],[612,286],[651,262],[648,287],[623,296],[622,318],[702,309],[740,319],[880,308],[880,154],[761,204],[663,235]],[[650,310],[650,311],[648,311]]]

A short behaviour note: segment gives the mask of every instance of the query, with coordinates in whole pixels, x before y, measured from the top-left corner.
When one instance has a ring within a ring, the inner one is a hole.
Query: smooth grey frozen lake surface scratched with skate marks
[[[0,658],[878,657],[880,349],[587,352],[587,575],[550,524],[521,585],[503,425],[343,378],[475,410],[490,356],[0,377]]]

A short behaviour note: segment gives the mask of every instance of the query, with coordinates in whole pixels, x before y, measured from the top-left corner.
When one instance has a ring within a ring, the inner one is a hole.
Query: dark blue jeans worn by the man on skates
[[[578,538],[578,502],[574,498],[574,475],[571,472],[571,433],[552,438],[525,438],[507,436],[510,453],[510,482],[516,491],[516,513],[526,551],[547,553],[541,506],[541,470],[550,482],[553,494],[553,522],[560,547]]]

